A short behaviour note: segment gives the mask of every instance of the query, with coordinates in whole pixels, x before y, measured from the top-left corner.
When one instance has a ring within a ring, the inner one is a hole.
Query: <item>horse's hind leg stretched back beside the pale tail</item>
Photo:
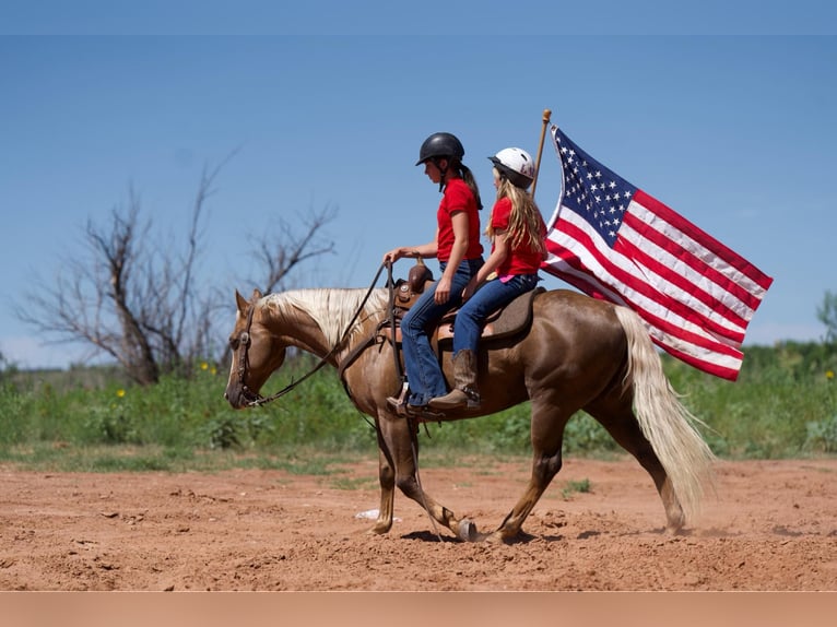
[[[665,530],[669,533],[677,533],[686,522],[683,508],[672,489],[669,475],[660,463],[660,459],[653,451],[651,443],[639,428],[639,423],[634,415],[629,402],[622,400],[617,409],[605,411],[599,407],[585,407],[622,448],[636,458],[657,487],[657,492],[665,509]]]

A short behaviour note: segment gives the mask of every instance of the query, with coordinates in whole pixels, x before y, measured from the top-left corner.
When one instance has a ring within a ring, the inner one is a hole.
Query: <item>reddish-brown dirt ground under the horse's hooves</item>
[[[400,493],[370,535],[377,462],[282,471],[32,473],[0,468],[2,591],[835,591],[837,460],[720,462],[685,533],[633,460],[567,459],[511,545],[437,535]],[[426,468],[427,492],[480,530],[528,462]],[[574,492],[569,482],[589,482]]]

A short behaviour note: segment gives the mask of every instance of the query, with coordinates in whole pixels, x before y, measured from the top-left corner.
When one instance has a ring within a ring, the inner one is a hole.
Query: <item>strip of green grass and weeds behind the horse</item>
[[[291,360],[266,387],[298,379],[311,359]],[[736,382],[663,356],[684,404],[727,459],[837,453],[837,350],[781,344],[746,351]],[[370,424],[322,370],[279,401],[234,411],[223,399],[225,372],[198,365],[189,378],[139,388],[118,370],[0,371],[0,464],[50,471],[212,471],[282,469],[329,475],[344,461],[376,459]],[[529,405],[479,419],[428,424],[420,433],[424,465],[529,456]],[[612,458],[623,450],[579,412],[564,453]],[[479,463],[479,461],[473,462]],[[349,482],[351,483],[351,482]]]

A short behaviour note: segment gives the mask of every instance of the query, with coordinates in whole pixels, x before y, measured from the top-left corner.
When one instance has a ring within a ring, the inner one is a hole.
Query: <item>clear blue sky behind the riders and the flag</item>
[[[107,20],[61,31],[26,15],[23,36],[0,31],[7,358],[66,366],[83,354],[43,344],[12,305],[49,282],[81,250],[86,221],[105,221],[130,187],[143,214],[176,233],[203,167],[237,151],[208,201],[202,250],[205,280],[229,292],[232,323],[233,289],[248,293],[257,274],[248,234],[333,206],[337,253],[299,279],[365,287],[385,250],[433,236],[438,189],[413,165],[424,138],[462,140],[487,204],[486,157],[509,145],[534,154],[544,108],[597,159],[774,276],[745,346],[824,334],[816,307],[837,291],[836,37],[499,37],[496,25],[361,36],[337,34],[339,17],[325,34],[297,36],[174,26],[149,36],[142,22]],[[544,217],[558,192],[547,143]]]

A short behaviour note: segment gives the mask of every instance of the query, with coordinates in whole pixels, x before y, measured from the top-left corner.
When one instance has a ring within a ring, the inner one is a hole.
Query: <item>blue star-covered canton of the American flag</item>
[[[583,217],[613,248],[637,188],[591,158],[559,129],[554,133],[564,170],[562,204]]]

